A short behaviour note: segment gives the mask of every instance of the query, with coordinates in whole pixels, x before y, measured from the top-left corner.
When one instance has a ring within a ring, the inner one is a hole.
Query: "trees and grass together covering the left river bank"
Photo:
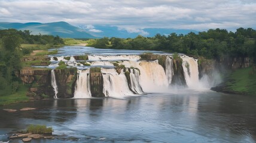
[[[28,101],[26,97],[28,87],[21,84],[16,72],[23,66],[38,64],[39,61],[26,63],[21,60],[24,55],[29,56],[35,49],[48,49],[60,45],[63,45],[63,41],[59,36],[31,35],[29,30],[0,30],[0,104]],[[39,55],[44,54],[48,53]]]

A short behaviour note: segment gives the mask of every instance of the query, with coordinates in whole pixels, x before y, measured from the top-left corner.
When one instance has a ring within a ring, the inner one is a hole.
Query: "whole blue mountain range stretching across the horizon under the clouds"
[[[190,32],[198,33],[195,30],[187,29],[133,29],[118,28],[110,25],[89,25],[89,26],[72,26],[69,23],[60,21],[54,23],[5,23],[0,22],[0,29],[17,29],[30,30],[33,35],[59,35],[61,38],[135,38],[138,35],[153,37],[157,33],[160,35],[169,35],[170,33],[187,34]]]

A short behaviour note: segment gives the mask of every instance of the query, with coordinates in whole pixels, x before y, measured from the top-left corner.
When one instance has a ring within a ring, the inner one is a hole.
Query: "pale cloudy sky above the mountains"
[[[256,0],[0,0],[0,21],[233,30],[256,27]]]

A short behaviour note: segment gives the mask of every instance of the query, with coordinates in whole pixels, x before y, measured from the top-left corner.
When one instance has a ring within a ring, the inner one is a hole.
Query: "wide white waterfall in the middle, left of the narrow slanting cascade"
[[[101,69],[103,76],[103,94],[105,97],[124,97],[134,95],[129,89],[126,76],[121,70],[118,74],[115,69]]]

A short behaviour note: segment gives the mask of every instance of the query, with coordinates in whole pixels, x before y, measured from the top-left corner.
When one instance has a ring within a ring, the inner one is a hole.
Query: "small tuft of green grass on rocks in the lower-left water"
[[[47,128],[45,125],[29,125],[27,132],[36,134],[52,134],[53,128]]]

